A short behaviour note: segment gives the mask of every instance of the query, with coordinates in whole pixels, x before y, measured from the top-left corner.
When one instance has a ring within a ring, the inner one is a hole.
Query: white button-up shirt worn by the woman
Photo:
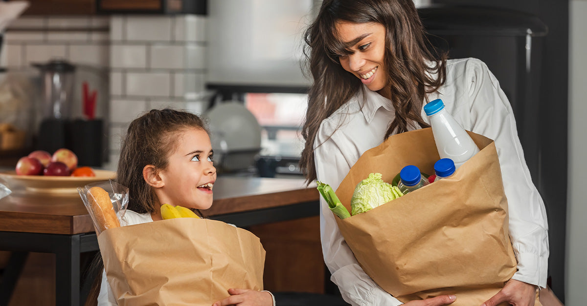
[[[446,84],[428,96],[429,101],[436,98],[443,100],[448,113],[465,130],[495,141],[508,199],[510,237],[518,261],[518,271],[512,278],[546,287],[549,251],[544,203],[530,178],[514,113],[497,79],[478,59],[448,60]],[[424,110],[421,116],[429,123]],[[393,118],[391,101],[363,87],[322,121],[314,142],[318,181],[336,190],[363,152],[382,144]],[[353,305],[402,304],[359,266],[323,199],[320,221],[324,260],[345,301]]]

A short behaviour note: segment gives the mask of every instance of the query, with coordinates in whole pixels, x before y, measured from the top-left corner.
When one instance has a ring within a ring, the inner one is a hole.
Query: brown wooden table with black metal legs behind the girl
[[[303,179],[221,177],[214,203],[203,213],[239,227],[316,216],[319,193]],[[80,254],[98,250],[92,220],[79,195],[16,190],[0,199],[0,250],[13,251],[2,274],[0,305],[8,304],[28,252],[56,254],[56,305],[83,305]],[[91,283],[88,282],[88,283]]]

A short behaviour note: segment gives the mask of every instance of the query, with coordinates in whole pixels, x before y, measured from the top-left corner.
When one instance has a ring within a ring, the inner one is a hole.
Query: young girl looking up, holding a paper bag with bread
[[[151,110],[130,123],[117,169],[117,182],[129,188],[129,225],[161,220],[164,203],[210,208],[216,181],[212,155],[208,131],[197,115]],[[228,293],[230,297],[214,305],[274,305],[268,291],[231,288]],[[117,305],[106,271],[98,305]]]

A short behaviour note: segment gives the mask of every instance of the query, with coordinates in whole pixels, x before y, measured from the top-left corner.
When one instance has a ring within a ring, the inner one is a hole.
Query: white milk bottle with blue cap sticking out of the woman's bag
[[[458,168],[479,152],[479,148],[469,134],[446,111],[442,100],[436,99],[426,104],[424,111],[430,118],[432,134],[434,134],[440,158],[452,159],[454,166]]]

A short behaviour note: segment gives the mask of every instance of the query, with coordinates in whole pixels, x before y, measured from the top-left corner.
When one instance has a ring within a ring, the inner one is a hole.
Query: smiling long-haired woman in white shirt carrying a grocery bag
[[[546,213],[510,103],[487,66],[477,59],[435,58],[412,0],[325,0],[305,40],[314,80],[303,124],[306,179],[336,190],[367,149],[390,135],[429,127],[423,105],[442,98],[466,130],[495,140],[500,158],[518,271],[484,305],[534,305],[537,288],[546,287]],[[402,304],[362,270],[323,201],[321,212],[324,259],[343,298],[353,305]],[[444,305],[454,298],[406,305]]]

